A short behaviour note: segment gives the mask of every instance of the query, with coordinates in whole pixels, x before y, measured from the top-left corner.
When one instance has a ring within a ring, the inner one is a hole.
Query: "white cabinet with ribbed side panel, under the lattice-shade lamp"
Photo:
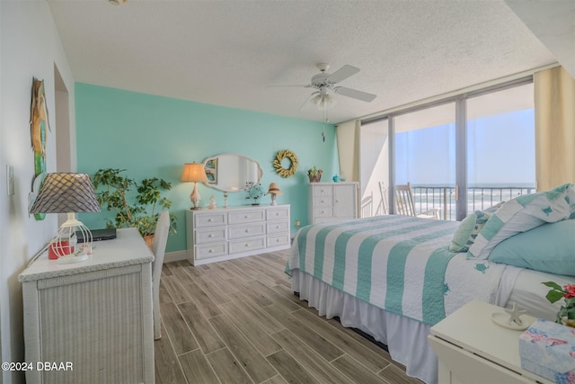
[[[18,276],[29,384],[155,380],[154,255],[135,228],[94,245],[83,263],[57,264],[45,252]]]

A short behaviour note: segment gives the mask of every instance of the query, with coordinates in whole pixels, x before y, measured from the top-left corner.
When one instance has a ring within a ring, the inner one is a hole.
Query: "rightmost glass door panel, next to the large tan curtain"
[[[535,192],[533,83],[467,100],[467,210]]]

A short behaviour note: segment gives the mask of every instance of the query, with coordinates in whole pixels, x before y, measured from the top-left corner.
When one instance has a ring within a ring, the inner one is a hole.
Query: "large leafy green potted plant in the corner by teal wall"
[[[169,191],[172,183],[157,177],[137,183],[123,175],[125,171],[125,169],[105,168],[93,174],[93,186],[102,210],[105,208],[116,212],[113,221],[111,219],[106,221],[106,227],[137,228],[148,246],[151,246],[159,211],[172,206],[172,201],[162,197],[162,192]],[[176,220],[172,214],[170,231],[176,232]]]

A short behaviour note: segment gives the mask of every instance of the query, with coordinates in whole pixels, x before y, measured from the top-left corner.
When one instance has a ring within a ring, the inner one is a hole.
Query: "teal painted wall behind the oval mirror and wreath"
[[[78,172],[94,174],[100,168],[121,168],[137,181],[161,177],[173,184],[165,196],[173,201],[178,232],[168,239],[167,251],[186,248],[185,210],[190,208],[192,183],[181,183],[184,163],[202,162],[208,156],[234,152],[261,164],[261,184],[279,184],[279,204],[291,204],[294,222],[307,223],[307,176],[314,165],[329,180],[339,173],[335,129],[317,121],[305,121],[261,112],[138,94],[114,88],[75,84],[75,116]],[[326,138],[323,142],[322,131]],[[299,159],[297,173],[284,179],[272,161],[280,149],[290,149]],[[198,184],[202,206],[209,197],[224,203],[223,192]],[[262,203],[269,203],[266,195]],[[229,205],[244,205],[245,193],[230,193]],[[111,212],[85,213],[88,228],[103,228]]]

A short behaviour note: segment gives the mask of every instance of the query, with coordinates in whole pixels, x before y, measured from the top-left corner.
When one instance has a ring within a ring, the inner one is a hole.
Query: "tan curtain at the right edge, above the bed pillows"
[[[563,67],[535,73],[537,190],[575,183],[575,80]]]

